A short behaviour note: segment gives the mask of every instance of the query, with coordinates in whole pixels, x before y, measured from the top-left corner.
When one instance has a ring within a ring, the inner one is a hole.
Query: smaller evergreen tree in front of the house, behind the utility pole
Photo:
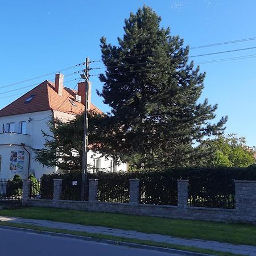
[[[100,144],[97,130],[102,123],[101,118],[102,115],[89,112],[88,144],[94,151],[97,151]],[[35,160],[46,166],[57,166],[61,170],[81,170],[84,113],[68,122],[52,119],[48,126],[49,133],[42,131],[46,143],[44,148],[35,150]]]

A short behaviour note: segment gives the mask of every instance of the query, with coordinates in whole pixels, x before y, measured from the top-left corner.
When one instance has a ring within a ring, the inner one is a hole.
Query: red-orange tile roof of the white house
[[[1,109],[0,117],[46,110],[60,111],[73,115],[80,114],[84,110],[84,105],[75,101],[75,94],[77,94],[75,90],[64,87],[63,95],[60,96],[54,89],[54,83],[46,80]],[[34,95],[34,98],[30,102],[24,103],[31,95]],[[73,106],[69,100],[73,100],[76,106]],[[93,104],[91,104],[91,110],[103,114]]]

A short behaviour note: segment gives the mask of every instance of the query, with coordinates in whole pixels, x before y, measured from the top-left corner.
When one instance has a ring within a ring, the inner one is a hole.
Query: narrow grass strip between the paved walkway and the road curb
[[[215,251],[215,250],[208,250],[208,249],[200,249],[197,247],[192,246],[181,246],[181,245],[174,245],[170,243],[164,243],[164,242],[153,242],[153,241],[144,241],[144,240],[137,240],[133,238],[125,238],[125,237],[115,237],[115,236],[108,236],[104,234],[95,234],[95,233],[87,233],[87,232],[79,232],[79,231],[72,231],[72,230],[66,230],[66,229],[53,229],[53,228],[46,228],[42,226],[35,226],[35,225],[29,225],[29,224],[19,224],[19,223],[12,223],[8,221],[1,221],[1,226],[12,226],[15,228],[24,228],[24,229],[32,229],[38,231],[47,231],[47,232],[54,232],[54,233],[60,233],[60,234],[72,234],[75,236],[83,236],[83,237],[92,237],[96,238],[98,241],[104,240],[112,240],[116,241],[116,245],[118,245],[118,242],[130,242],[130,243],[138,243],[139,245],[150,245],[150,246],[157,246],[157,247],[163,247],[163,248],[169,248],[169,249],[177,249],[177,250],[184,250],[184,251],[191,251],[194,253],[203,253],[203,254],[211,254],[211,255],[220,255],[220,256],[233,256],[238,254],[233,253],[225,253],[222,251]]]

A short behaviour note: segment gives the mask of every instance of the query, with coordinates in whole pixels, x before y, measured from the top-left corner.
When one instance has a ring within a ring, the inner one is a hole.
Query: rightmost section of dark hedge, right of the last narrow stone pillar
[[[183,178],[189,180],[191,206],[235,208],[234,180],[256,180],[256,168],[194,168],[185,172]]]

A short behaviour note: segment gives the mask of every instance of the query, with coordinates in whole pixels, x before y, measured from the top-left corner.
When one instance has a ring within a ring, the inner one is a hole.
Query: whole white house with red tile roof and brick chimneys
[[[84,110],[85,82],[78,91],[64,87],[63,75],[55,76],[55,83],[44,81],[5,108],[0,110],[0,179],[18,174],[23,179],[30,174],[39,178],[57,171],[34,160],[34,149],[43,148],[42,130],[49,133],[47,122],[54,118],[73,119]],[[89,109],[102,113],[90,103]],[[81,99],[81,100],[80,100]],[[108,171],[127,171],[127,164],[115,166],[112,159],[88,152],[88,164]]]

